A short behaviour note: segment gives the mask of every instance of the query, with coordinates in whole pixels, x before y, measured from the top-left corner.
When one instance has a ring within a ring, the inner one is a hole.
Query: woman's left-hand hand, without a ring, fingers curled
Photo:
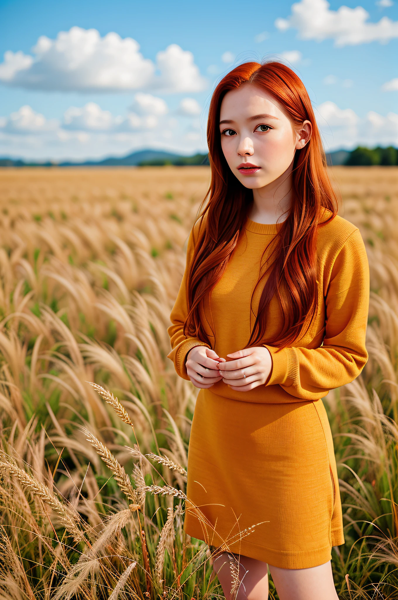
[[[189,350],[186,355],[186,372],[195,388],[211,388],[221,381],[222,376],[217,368],[219,362],[225,362],[225,358],[219,358],[214,350],[206,346],[195,346]]]

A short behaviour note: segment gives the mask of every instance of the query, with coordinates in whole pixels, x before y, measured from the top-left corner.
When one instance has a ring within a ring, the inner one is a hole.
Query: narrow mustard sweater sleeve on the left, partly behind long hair
[[[201,219],[198,220],[194,227],[192,227],[188,238],[188,247],[186,249],[186,266],[185,272],[182,278],[180,289],[177,295],[176,302],[174,303],[173,310],[170,314],[170,320],[172,325],[167,329],[168,335],[170,335],[171,352],[167,355],[174,362],[174,368],[177,373],[183,379],[188,379],[186,373],[185,359],[189,350],[195,346],[206,346],[210,348],[209,344],[204,343],[195,337],[187,337],[184,335],[183,326],[188,314],[188,297],[187,297],[187,283],[188,273],[191,266],[195,242],[197,240],[198,233],[200,231]]]

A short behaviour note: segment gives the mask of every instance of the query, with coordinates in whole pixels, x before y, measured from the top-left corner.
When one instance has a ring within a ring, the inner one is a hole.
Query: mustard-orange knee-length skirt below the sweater
[[[285,569],[328,562],[344,538],[322,400],[247,403],[201,390],[187,496],[194,538]]]

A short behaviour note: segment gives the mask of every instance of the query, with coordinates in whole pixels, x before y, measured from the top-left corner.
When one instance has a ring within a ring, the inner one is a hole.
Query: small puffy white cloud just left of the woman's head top
[[[161,71],[159,80],[153,85],[165,92],[200,92],[207,86],[207,80],[201,76],[194,63],[194,55],[182,50],[177,44],[171,44],[156,55]]]

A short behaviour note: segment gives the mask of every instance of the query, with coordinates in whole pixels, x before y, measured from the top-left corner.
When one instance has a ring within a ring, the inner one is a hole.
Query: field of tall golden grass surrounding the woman
[[[331,177],[371,276],[369,361],[324,398],[346,539],[334,578],[340,598],[393,599],[398,169]],[[197,390],[166,358],[208,183],[208,167],[0,172],[0,599],[223,597],[182,529]]]

